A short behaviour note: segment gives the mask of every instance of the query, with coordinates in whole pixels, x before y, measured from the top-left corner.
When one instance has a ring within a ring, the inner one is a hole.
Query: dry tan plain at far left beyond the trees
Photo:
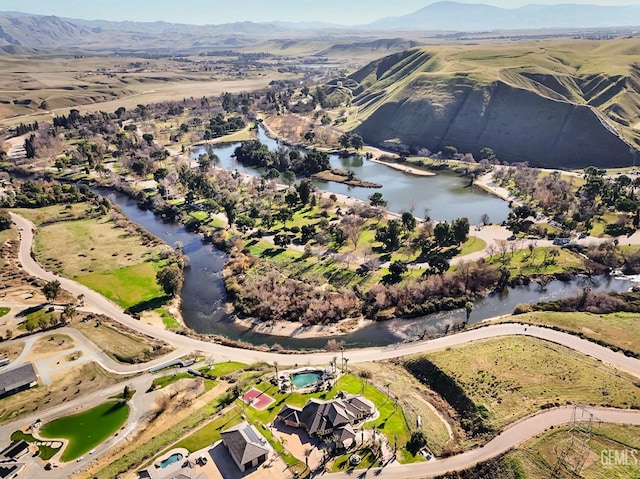
[[[265,69],[238,78],[182,71],[184,64],[165,59],[146,59],[144,69],[141,63],[140,58],[5,55],[0,58],[0,118],[13,125],[51,120],[70,108],[113,112],[120,106],[253,91],[267,86],[274,73]]]

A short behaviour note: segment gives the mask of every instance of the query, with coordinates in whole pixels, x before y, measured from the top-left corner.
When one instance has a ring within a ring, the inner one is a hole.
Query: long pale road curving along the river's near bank
[[[159,329],[148,325],[144,322],[133,319],[124,313],[122,308],[106,299],[101,294],[83,286],[73,280],[57,276],[49,271],[45,271],[31,256],[31,246],[33,244],[33,225],[25,218],[11,213],[12,218],[20,229],[20,252],[19,260],[24,270],[33,275],[40,277],[46,281],[57,279],[61,286],[74,295],[84,294],[84,302],[87,309],[96,313],[104,314],[123,324],[138,330],[149,336],[162,339],[176,348],[176,351],[170,354],[171,358],[180,354],[186,354],[193,351],[202,351],[203,353],[213,356],[216,362],[226,360],[238,360],[243,362],[266,361],[273,363],[277,361],[280,365],[291,364],[323,364],[328,363],[333,357],[340,353],[336,352],[318,352],[318,353],[301,353],[301,354],[284,354],[267,351],[255,351],[246,349],[237,349],[229,346],[223,346],[207,341],[175,334],[171,331]],[[622,353],[616,353],[608,348],[599,346],[590,341],[581,339],[577,336],[554,331],[549,328],[529,326],[524,327],[518,324],[499,324],[490,325],[465,331],[458,334],[452,334],[441,338],[420,341],[407,344],[396,344],[389,347],[365,348],[357,350],[349,350],[345,356],[349,359],[349,364],[368,362],[380,359],[391,359],[408,354],[417,354],[421,352],[435,351],[447,347],[457,346],[485,338],[493,338],[500,336],[525,335],[532,336],[557,344],[561,344],[570,349],[580,351],[588,356],[600,359],[602,362],[611,365],[616,369],[626,371],[636,377],[640,377],[640,360],[629,358]],[[159,358],[149,364],[160,364],[167,360],[168,357]],[[131,366],[121,365],[117,363],[102,363],[109,367],[110,370],[131,372]],[[146,365],[145,367],[149,367]],[[139,369],[138,369],[139,370]]]

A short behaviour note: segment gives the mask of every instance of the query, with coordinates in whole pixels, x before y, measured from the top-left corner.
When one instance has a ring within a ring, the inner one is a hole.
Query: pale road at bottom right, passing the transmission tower
[[[580,413],[577,418],[581,420],[589,419],[589,414],[584,413],[587,412],[593,414],[595,416],[594,419],[598,421],[640,426],[640,411],[598,407],[586,408],[584,411],[578,409],[578,411],[580,411]],[[366,476],[385,479],[427,478],[445,474],[450,471],[468,469],[479,462],[484,462],[499,456],[552,426],[559,426],[571,422],[572,413],[572,407],[548,409],[516,421],[482,447],[471,449],[470,451],[445,459],[431,460],[426,463],[392,465],[382,469],[381,472],[379,468],[374,468],[369,470]],[[353,479],[354,477],[363,476],[361,476],[359,471],[354,471],[351,474],[340,472],[323,475],[322,477],[326,477],[327,479]]]

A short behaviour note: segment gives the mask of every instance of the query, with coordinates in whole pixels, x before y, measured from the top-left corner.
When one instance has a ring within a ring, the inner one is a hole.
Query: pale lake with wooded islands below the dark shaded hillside
[[[275,150],[279,146],[278,142],[266,136],[262,129],[258,130],[258,139],[270,150]],[[202,153],[215,153],[220,158],[222,168],[238,170],[254,176],[262,175],[264,169],[245,167],[231,156],[238,145],[239,143],[232,143],[199,148],[192,153],[192,156],[197,158]],[[329,155],[329,157],[334,168],[352,170],[358,178],[383,186],[373,189],[356,188],[333,181],[314,182],[315,186],[323,191],[340,193],[363,201],[368,201],[369,196],[374,192],[380,192],[388,201],[389,211],[396,213],[413,211],[414,215],[423,217],[425,210],[428,210],[433,219],[441,221],[467,217],[471,224],[477,224],[480,222],[480,217],[486,213],[492,222],[501,223],[509,215],[509,205],[505,201],[478,187],[469,187],[467,178],[457,176],[450,171],[442,171],[435,176],[416,176],[360,156],[342,158],[339,155]]]

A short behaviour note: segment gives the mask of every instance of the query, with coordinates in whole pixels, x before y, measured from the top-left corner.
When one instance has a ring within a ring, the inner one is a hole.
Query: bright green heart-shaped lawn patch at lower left
[[[113,435],[129,416],[129,406],[122,402],[106,402],[80,414],[55,419],[40,429],[40,435],[49,439],[67,439],[62,452],[63,462],[89,452]]]

